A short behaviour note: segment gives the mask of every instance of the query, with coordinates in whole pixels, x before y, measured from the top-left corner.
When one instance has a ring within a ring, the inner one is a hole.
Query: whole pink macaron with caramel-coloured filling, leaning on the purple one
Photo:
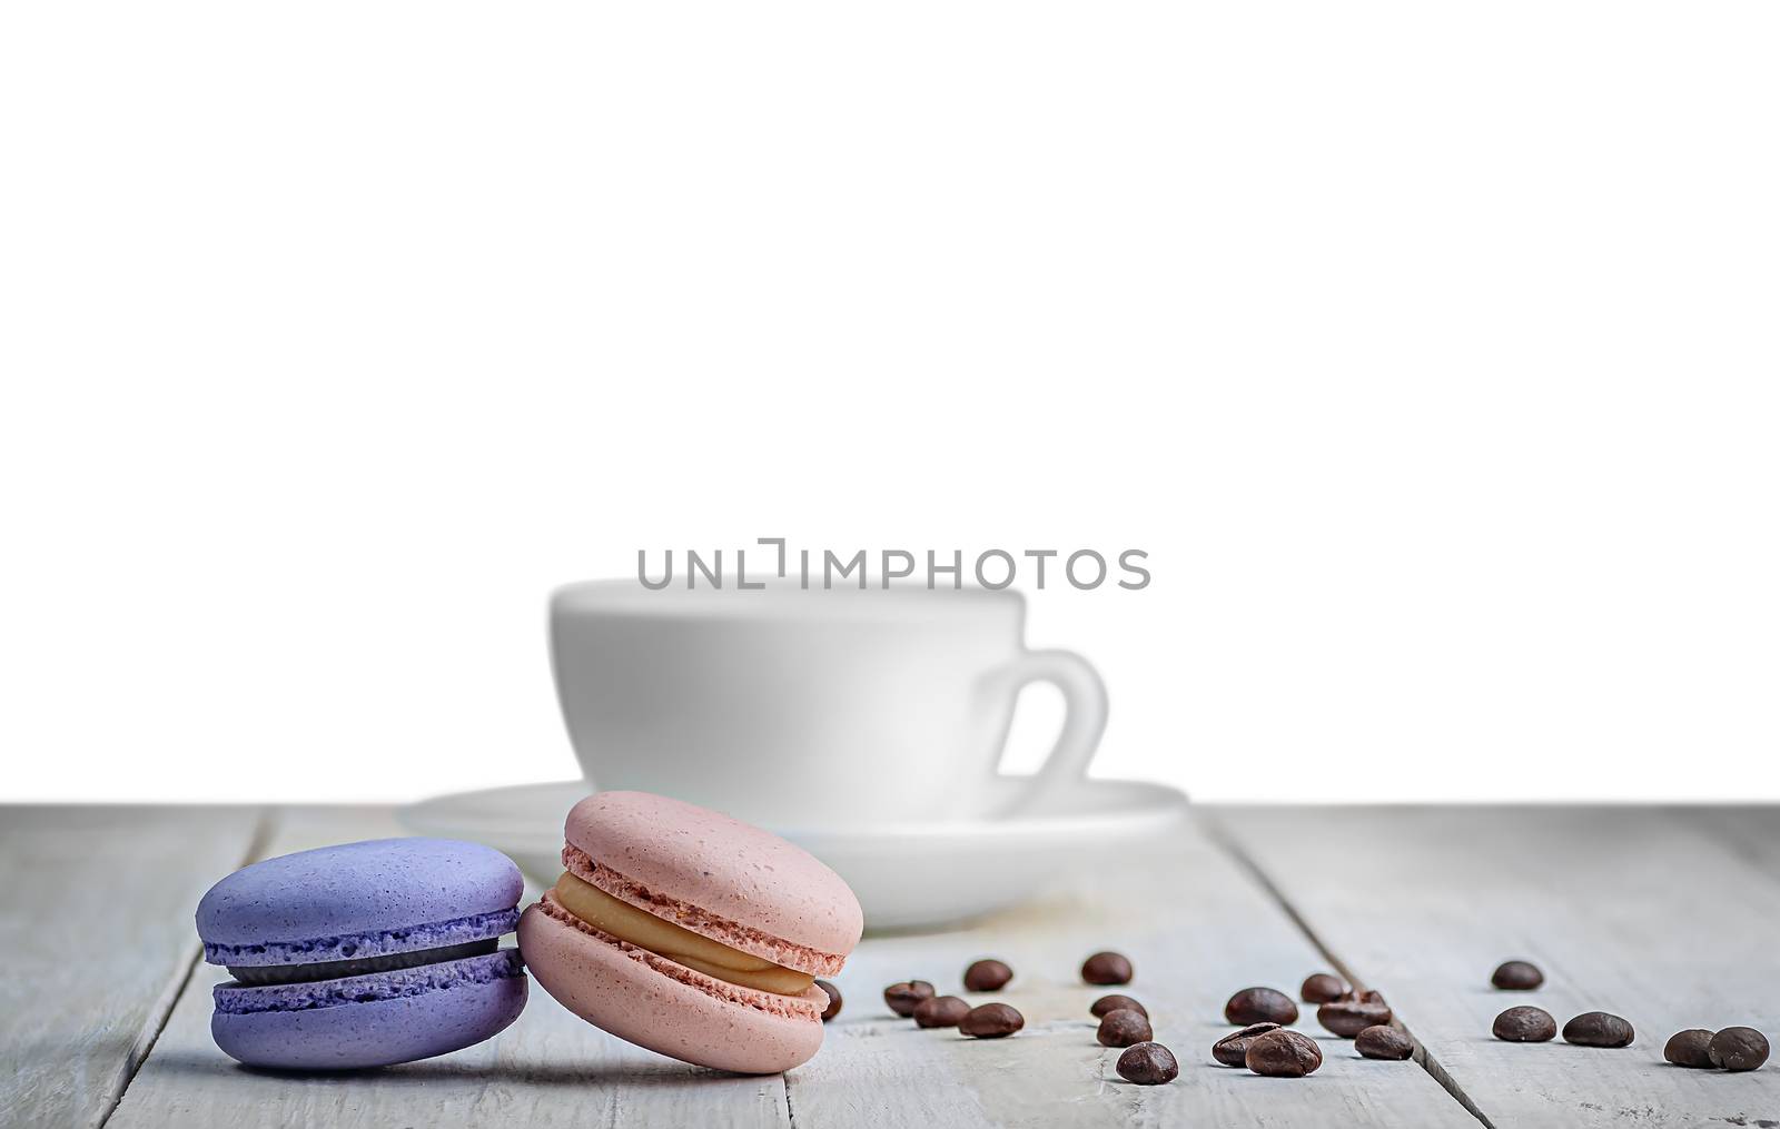
[[[596,1027],[687,1063],[776,1074],[822,1045],[860,901],[778,835],[648,792],[570,810],[562,878],[520,919],[543,988]]]

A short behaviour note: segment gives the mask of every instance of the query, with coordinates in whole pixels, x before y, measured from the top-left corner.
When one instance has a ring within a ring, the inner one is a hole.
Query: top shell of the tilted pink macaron
[[[639,887],[794,946],[846,956],[865,926],[860,899],[813,855],[692,803],[596,792],[570,810],[564,837]]]

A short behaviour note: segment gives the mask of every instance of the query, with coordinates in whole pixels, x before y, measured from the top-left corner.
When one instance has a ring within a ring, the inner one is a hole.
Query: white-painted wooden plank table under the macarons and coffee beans
[[[621,1044],[534,992],[479,1047],[354,1076],[237,1067],[210,1042],[192,908],[269,855],[402,833],[386,808],[0,808],[0,1125],[1780,1125],[1780,1063],[1663,1061],[1680,1027],[1780,1036],[1780,808],[1198,808],[1187,833],[1041,903],[970,928],[867,938],[838,983],[822,1052],[733,1077]],[[1127,988],[1180,1058],[1132,1086],[1093,1036],[1089,951],[1137,965]],[[892,1017],[883,985],[958,992],[1007,960],[1027,1026],[975,1042]],[[1493,992],[1509,956],[1536,994]],[[1294,990],[1317,969],[1381,988],[1419,1040],[1410,1063],[1323,1035],[1301,1081],[1218,1067],[1223,1001]],[[1630,1019],[1602,1051],[1490,1038],[1536,1003]]]

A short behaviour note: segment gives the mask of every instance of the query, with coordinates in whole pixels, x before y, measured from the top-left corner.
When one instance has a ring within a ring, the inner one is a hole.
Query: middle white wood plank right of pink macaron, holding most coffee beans
[[[1136,963],[1127,988],[1082,985],[1082,958],[1118,949]],[[963,994],[965,965],[1000,956],[1016,979],[993,995],[1027,1026],[977,1042],[922,1031],[883,1003],[885,985],[931,979]],[[1221,1067],[1210,1045],[1230,1027],[1223,1004],[1250,985],[1296,994],[1323,960],[1278,905],[1196,830],[1134,851],[1129,864],[1063,894],[938,935],[867,938],[838,985],[846,1010],[822,1052],[787,1076],[797,1125],[954,1129],[977,1125],[1404,1125],[1477,1129],[1477,1122],[1415,1063],[1380,1063],[1326,1036],[1314,1015],[1298,1027],[1319,1038],[1323,1068],[1267,1079]],[[1118,1077],[1118,1051],[1095,1042],[1088,1004],[1125,992],[1150,1008],[1157,1040],[1180,1060],[1166,1086]]]

